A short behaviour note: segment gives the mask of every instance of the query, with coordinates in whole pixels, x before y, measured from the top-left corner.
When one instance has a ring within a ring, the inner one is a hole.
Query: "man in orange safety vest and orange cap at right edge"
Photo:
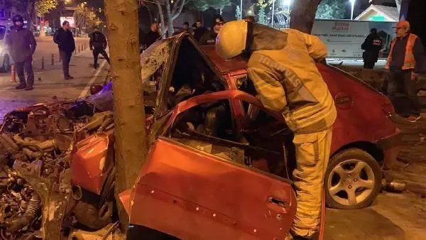
[[[416,122],[420,119],[420,105],[415,91],[418,68],[425,50],[418,36],[410,33],[410,23],[399,21],[395,25],[396,38],[391,41],[391,50],[385,68],[389,71],[388,96],[394,103],[395,92],[403,89],[402,94],[410,100],[407,119]]]

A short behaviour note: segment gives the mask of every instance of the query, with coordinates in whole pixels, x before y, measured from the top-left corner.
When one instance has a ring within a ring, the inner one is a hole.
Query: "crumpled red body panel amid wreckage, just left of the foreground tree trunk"
[[[71,181],[84,190],[101,194],[104,181],[114,164],[109,143],[113,131],[85,138],[75,146],[71,161]]]

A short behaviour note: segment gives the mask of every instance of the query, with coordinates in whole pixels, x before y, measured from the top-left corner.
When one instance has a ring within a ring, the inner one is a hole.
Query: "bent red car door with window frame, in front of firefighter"
[[[180,239],[285,238],[296,211],[295,191],[288,180],[233,160],[235,155],[244,159],[241,148],[250,146],[195,133],[202,129],[195,122],[184,124],[193,126],[192,133],[202,138],[173,134],[186,112],[213,101],[225,102],[219,109],[225,106],[232,112],[226,102],[237,95],[238,91],[214,92],[176,107],[170,128],[151,148],[133,190],[121,194],[130,224]],[[207,111],[205,115],[212,115],[211,109]]]

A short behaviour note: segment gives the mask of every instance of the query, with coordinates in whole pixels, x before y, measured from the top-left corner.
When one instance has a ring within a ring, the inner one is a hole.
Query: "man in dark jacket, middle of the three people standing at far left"
[[[62,23],[62,28],[56,31],[53,41],[58,44],[59,47],[65,80],[73,79],[74,77],[70,76],[70,61],[72,52],[75,50],[75,41],[70,31],[70,23],[68,21],[64,21]]]

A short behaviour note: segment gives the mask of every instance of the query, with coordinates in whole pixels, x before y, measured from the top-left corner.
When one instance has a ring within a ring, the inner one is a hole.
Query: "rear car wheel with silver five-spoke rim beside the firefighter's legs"
[[[330,161],[324,178],[326,202],[337,209],[368,207],[381,188],[381,169],[366,151],[350,148]]]

